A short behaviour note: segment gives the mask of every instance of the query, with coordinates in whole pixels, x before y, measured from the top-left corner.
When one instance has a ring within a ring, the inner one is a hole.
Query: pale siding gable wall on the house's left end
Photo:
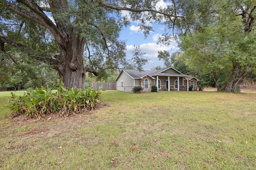
[[[123,81],[123,88],[121,88],[121,81]],[[132,79],[128,74],[122,72],[118,80],[116,81],[116,90],[123,92],[132,92],[132,87],[134,79]]]

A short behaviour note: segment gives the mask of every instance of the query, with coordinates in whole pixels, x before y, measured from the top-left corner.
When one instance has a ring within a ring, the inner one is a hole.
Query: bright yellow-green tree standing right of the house
[[[202,73],[211,72],[218,90],[236,91],[256,69],[256,2],[215,1],[208,8],[208,22],[198,21],[180,36],[184,59]]]

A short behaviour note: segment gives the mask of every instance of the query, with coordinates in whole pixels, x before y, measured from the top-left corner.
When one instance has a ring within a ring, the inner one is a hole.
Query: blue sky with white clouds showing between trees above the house
[[[177,51],[176,42],[173,41],[173,45],[161,46],[157,44],[157,39],[164,31],[163,25],[153,24],[154,32],[151,32],[150,35],[145,39],[144,33],[140,32],[138,29],[137,23],[131,22],[131,25],[124,30],[121,31],[120,39],[126,40],[126,56],[127,58],[131,58],[133,53],[132,47],[134,45],[139,45],[142,53],[146,53],[144,56],[148,59],[148,63],[146,63],[143,67],[144,70],[150,70],[150,68],[155,66],[164,66],[164,62],[157,58],[158,51],[169,51],[169,53],[174,53]]]

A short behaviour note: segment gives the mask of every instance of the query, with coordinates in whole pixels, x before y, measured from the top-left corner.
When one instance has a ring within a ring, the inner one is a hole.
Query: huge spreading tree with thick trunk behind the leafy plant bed
[[[160,0],[0,0],[0,47],[6,53],[15,47],[54,66],[67,87],[83,88],[86,72],[96,76],[108,68],[128,63],[125,41],[119,33],[130,20],[138,21],[148,35],[150,22],[166,24],[170,37],[178,15],[174,1]],[[44,48],[42,48],[42,46]],[[57,48],[56,48],[57,47]],[[146,62],[135,47],[134,62]]]

